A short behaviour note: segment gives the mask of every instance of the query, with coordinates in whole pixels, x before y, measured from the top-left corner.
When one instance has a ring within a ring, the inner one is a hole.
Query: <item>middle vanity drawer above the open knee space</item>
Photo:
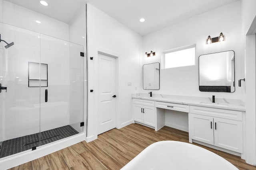
[[[156,102],[156,107],[168,110],[176,110],[189,112],[189,106],[184,104],[174,104],[174,103],[166,103],[166,102]]]

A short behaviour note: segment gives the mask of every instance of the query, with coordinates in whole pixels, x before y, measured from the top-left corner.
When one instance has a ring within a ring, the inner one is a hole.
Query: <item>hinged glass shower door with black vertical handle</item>
[[[41,145],[82,132],[83,46],[40,35]]]

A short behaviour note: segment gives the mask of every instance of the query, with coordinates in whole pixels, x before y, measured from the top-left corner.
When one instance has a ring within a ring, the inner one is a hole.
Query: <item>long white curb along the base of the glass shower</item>
[[[84,141],[85,134],[81,133],[78,135],[74,135],[72,137],[68,137],[59,141],[55,141],[40,147],[37,147],[36,150],[28,150],[24,152],[20,152],[11,156],[7,156],[0,160],[0,170],[5,170],[12,168],[14,166],[18,166],[20,164],[24,164],[31,160],[40,158],[52,152],[56,152],[58,150],[64,149],[81,141]]]

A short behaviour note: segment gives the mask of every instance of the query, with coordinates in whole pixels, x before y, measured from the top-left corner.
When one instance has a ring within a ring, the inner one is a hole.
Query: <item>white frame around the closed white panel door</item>
[[[118,112],[117,112],[117,111],[118,111],[118,97],[119,97],[119,88],[118,88],[118,82],[119,82],[119,72],[118,72],[118,68],[119,68],[119,67],[118,67],[119,57],[117,57],[117,56],[115,56],[115,55],[111,55],[111,54],[109,54],[109,53],[104,53],[104,52],[102,52],[102,51],[98,51],[98,54],[106,55],[106,56],[108,56],[108,57],[113,57],[113,58],[116,59],[116,96],[117,96],[117,98],[116,98],[116,127],[117,127],[118,122],[119,122],[119,120],[118,120]],[[98,55],[97,55],[97,59],[98,59]],[[99,61],[97,60],[97,65],[98,65],[98,63],[99,63]],[[100,93],[99,93],[98,78],[99,78],[99,68],[97,68],[97,79],[96,79],[96,81],[97,81],[97,86],[96,86],[96,88],[95,88],[95,90],[96,90],[95,105],[97,106],[97,109],[96,109],[97,115],[99,115],[99,111],[98,111],[98,99],[99,99],[99,95],[100,95]],[[99,123],[98,120],[99,120],[99,119],[98,119],[98,116],[97,116],[97,135],[98,135],[98,123]]]

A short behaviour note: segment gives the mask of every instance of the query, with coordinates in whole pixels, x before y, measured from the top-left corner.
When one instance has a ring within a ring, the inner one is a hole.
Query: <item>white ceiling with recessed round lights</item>
[[[88,2],[143,36],[238,0],[45,0],[47,7],[40,0],[7,1],[65,23]]]

